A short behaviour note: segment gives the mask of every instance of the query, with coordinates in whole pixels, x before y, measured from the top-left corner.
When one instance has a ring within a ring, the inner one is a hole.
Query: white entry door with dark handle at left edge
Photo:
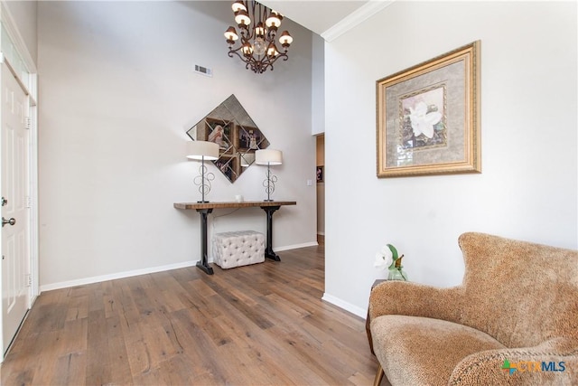
[[[2,353],[28,310],[30,273],[28,200],[28,104],[23,89],[2,64]]]

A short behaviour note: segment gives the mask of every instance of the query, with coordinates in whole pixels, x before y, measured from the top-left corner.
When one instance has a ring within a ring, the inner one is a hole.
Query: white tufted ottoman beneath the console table
[[[265,236],[257,231],[230,231],[213,237],[213,257],[223,269],[265,261]]]

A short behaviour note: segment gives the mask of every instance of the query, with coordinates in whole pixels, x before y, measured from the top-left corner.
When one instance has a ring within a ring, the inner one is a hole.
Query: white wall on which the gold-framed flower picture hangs
[[[365,315],[386,243],[443,287],[465,231],[578,248],[576,35],[575,2],[394,2],[326,43],[325,298]],[[476,40],[482,174],[378,179],[376,80]]]

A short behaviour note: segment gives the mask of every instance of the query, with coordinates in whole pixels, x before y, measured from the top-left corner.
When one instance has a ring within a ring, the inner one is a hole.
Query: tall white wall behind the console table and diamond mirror
[[[284,152],[274,198],[297,205],[275,213],[274,249],[315,243],[311,32],[285,20],[289,61],[256,75],[227,56],[228,2],[41,2],[38,21],[43,289],[200,259],[198,213],[172,207],[200,199],[185,131],[230,94]],[[265,198],[262,166],[210,171],[211,201]],[[228,212],[210,234],[266,231],[262,210]]]

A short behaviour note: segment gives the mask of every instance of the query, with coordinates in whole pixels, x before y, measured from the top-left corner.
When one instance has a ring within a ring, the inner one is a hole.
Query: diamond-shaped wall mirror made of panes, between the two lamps
[[[228,181],[234,183],[255,162],[255,151],[269,146],[267,138],[235,95],[225,99],[187,134],[193,141],[219,144],[219,159],[213,161]]]

